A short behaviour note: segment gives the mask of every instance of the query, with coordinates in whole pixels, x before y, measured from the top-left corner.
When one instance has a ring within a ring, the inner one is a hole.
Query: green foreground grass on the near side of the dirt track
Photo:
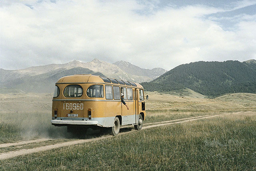
[[[0,170],[188,170],[256,169],[256,116],[212,119],[134,131],[0,161]]]

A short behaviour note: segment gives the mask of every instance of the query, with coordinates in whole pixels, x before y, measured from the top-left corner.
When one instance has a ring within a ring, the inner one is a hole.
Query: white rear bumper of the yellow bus
[[[67,120],[51,120],[52,125],[97,125],[98,121],[67,121]]]

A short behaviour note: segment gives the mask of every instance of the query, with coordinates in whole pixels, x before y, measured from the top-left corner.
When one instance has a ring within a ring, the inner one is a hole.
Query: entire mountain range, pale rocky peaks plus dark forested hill
[[[182,92],[191,89],[208,97],[225,93],[256,93],[256,60],[191,62],[166,71],[143,69],[129,62],[113,64],[94,59],[83,63],[34,66],[22,70],[0,69],[0,93],[52,93],[56,81],[74,74],[92,74],[141,83],[148,91]]]

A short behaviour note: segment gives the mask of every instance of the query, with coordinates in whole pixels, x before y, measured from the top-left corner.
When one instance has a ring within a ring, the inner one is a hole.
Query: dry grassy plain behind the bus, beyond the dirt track
[[[148,94],[150,98],[146,101],[147,116],[144,123],[256,110],[256,95],[249,93],[229,94],[216,99],[206,99],[193,92],[189,96],[157,92],[146,92],[145,94]],[[50,94],[44,93],[0,94],[0,143],[40,137],[76,138],[66,133],[66,127],[51,125],[51,99],[49,97]],[[31,101],[33,102],[31,103]],[[14,112],[20,106],[23,108]],[[38,110],[42,110],[42,112],[38,112]]]

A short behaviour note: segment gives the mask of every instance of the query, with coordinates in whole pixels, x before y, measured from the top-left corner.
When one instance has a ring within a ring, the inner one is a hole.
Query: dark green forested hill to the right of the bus
[[[166,72],[151,82],[141,83],[148,91],[175,91],[189,88],[207,96],[224,93],[256,93],[256,63],[193,62]]]

